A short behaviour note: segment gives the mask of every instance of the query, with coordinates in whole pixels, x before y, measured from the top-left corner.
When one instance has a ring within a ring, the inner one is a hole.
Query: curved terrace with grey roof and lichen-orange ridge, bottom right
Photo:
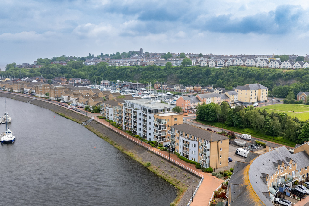
[[[289,193],[295,181],[308,176],[309,155],[304,148],[308,147],[291,154],[281,146],[264,154],[250,152],[244,162],[236,161],[228,182],[228,205],[273,206],[278,191]]]

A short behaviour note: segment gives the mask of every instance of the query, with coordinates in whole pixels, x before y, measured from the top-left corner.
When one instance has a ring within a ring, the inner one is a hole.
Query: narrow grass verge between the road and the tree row
[[[208,124],[208,125],[213,125],[215,127],[219,127],[216,130],[217,130],[217,132],[221,132],[222,123],[219,123],[219,122],[204,122],[204,121],[200,121],[200,120],[197,120],[197,121],[202,123],[202,124]],[[238,133],[241,133],[241,134],[250,134],[250,135],[252,135],[252,137],[257,137],[257,138],[267,140],[267,141],[273,141],[274,140],[274,143],[279,143],[281,145],[286,145],[286,146],[290,146],[290,147],[293,147],[293,148],[296,145],[295,142],[286,140],[283,137],[273,137],[273,136],[269,136],[269,135],[266,135],[266,134],[261,134],[261,133],[255,132],[252,128],[242,129],[242,128],[237,128],[237,127],[227,127],[223,124],[223,129],[231,130],[231,131],[238,132]]]

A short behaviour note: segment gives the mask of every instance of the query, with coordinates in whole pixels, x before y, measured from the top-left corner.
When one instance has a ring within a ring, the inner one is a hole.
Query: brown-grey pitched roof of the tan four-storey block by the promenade
[[[171,128],[185,132],[195,137],[202,138],[210,142],[229,139],[228,137],[225,137],[221,134],[210,132],[208,130],[195,127],[189,124],[177,124],[177,125],[171,126]]]

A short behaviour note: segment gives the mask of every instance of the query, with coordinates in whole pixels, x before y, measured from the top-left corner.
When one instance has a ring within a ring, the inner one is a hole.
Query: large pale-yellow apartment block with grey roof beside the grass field
[[[242,103],[265,102],[267,100],[268,88],[256,83],[236,86],[238,101]]]

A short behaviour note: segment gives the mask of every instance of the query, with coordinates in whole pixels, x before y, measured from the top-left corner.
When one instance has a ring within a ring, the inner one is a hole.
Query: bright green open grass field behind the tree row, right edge
[[[265,109],[268,113],[284,111],[292,118],[297,117],[299,120],[309,119],[309,105],[306,104],[273,104],[258,107],[257,109]]]

